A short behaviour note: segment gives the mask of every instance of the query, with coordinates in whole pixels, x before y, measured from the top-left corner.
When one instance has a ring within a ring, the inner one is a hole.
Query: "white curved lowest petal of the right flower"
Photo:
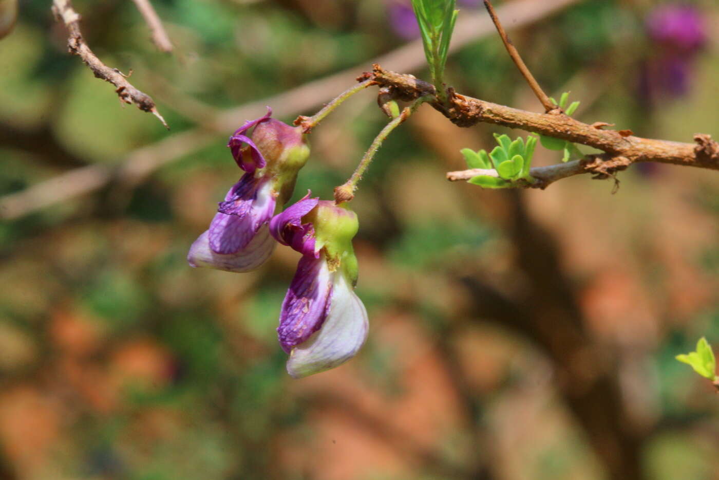
[[[352,358],[367,339],[367,309],[341,271],[334,276],[329,310],[316,334],[290,352],[287,371],[295,379],[329,370]]]

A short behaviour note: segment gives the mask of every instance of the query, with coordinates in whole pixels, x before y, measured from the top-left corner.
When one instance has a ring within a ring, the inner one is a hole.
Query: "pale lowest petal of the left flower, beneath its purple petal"
[[[252,240],[242,250],[229,255],[216,253],[210,248],[209,230],[198,237],[190,247],[187,261],[193,267],[209,267],[229,272],[247,272],[255,270],[275,249],[275,239],[270,235],[267,225],[260,227]]]

